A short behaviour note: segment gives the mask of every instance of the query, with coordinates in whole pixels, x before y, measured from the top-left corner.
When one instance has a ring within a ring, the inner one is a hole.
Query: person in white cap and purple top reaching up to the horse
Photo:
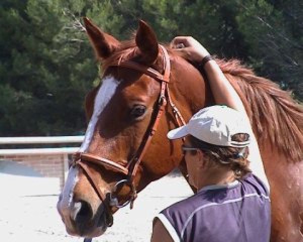
[[[243,103],[195,39],[176,37],[172,45],[182,46],[177,50],[204,68],[218,105],[201,109],[168,133],[172,140],[186,137],[189,183],[198,193],[154,219],[151,241],[267,242],[269,184]]]

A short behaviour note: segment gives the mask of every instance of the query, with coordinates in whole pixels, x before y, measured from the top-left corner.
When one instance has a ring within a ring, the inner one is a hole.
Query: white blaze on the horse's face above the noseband
[[[99,115],[102,113],[103,109],[106,107],[108,102],[114,95],[119,81],[112,76],[107,76],[103,79],[103,84],[100,87],[94,101],[93,113],[88,123],[84,141],[80,147],[79,152],[85,152],[88,145],[92,139],[92,135],[95,129],[95,125],[98,121]]]

